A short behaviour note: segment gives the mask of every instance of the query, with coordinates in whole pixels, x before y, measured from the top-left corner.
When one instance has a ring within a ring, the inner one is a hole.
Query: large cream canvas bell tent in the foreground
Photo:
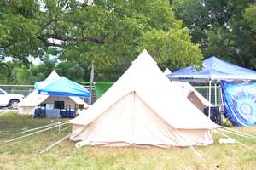
[[[146,50],[70,122],[77,146],[207,145],[212,144],[211,129],[218,127],[177,91]]]

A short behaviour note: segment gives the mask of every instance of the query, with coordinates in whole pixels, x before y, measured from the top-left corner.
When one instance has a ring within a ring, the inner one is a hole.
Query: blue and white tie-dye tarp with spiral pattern
[[[221,82],[224,114],[233,125],[256,124],[256,82]]]

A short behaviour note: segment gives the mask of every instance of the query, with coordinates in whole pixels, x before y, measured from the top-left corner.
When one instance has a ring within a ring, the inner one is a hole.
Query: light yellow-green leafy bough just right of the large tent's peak
[[[177,70],[188,63],[200,65],[202,55],[198,45],[190,42],[187,28],[170,31],[148,31],[141,40],[141,50],[149,49],[149,53],[162,69]]]

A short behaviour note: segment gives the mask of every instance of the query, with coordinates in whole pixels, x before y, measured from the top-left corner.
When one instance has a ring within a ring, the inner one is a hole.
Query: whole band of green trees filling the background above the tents
[[[216,55],[255,70],[255,33],[253,0],[3,0],[0,83],[32,84],[53,69],[90,80],[92,61],[97,81],[115,81],[143,48],[161,69]]]

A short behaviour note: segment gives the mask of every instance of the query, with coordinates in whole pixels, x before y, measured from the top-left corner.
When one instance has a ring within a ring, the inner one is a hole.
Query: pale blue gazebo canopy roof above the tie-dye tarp
[[[250,81],[256,80],[256,71],[233,65],[214,56],[205,59],[202,69],[196,71],[195,66],[189,66],[167,75],[171,80],[204,82],[211,81]]]

